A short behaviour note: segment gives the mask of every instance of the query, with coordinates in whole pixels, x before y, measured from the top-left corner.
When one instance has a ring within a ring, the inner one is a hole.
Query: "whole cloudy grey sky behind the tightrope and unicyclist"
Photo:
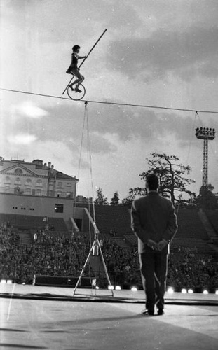
[[[86,98],[218,111],[217,0],[0,0],[1,87],[62,96],[71,47],[86,55]],[[1,155],[52,162],[78,175],[84,103],[1,92]],[[194,128],[218,114],[88,104],[94,188],[112,197],[144,186],[152,152],[191,165],[202,181],[203,141]],[[210,142],[209,182],[218,191],[217,141]],[[86,140],[84,141],[86,146]],[[78,194],[92,195],[86,147]]]

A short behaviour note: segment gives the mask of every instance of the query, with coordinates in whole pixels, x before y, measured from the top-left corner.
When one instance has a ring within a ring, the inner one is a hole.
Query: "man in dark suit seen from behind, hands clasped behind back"
[[[170,200],[158,194],[156,174],[147,176],[148,194],[132,203],[131,226],[138,238],[138,251],[142,285],[146,295],[146,308],[142,312],[163,315],[165,280],[168,271],[168,244],[177,232],[177,217]]]

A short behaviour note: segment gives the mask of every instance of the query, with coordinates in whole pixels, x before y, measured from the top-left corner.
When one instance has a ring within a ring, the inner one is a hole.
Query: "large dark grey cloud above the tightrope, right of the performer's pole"
[[[111,43],[111,69],[130,78],[163,79],[173,72],[184,80],[196,74],[217,77],[218,28],[189,31],[158,29],[149,38],[127,38]]]

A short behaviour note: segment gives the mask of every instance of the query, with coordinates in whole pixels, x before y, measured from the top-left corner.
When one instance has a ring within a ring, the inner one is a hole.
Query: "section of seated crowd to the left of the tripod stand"
[[[28,283],[34,274],[48,276],[76,276],[83,267],[89,250],[86,237],[53,235],[37,230],[32,244],[20,245],[13,228],[0,233],[0,279]],[[87,273],[87,272],[86,272]]]

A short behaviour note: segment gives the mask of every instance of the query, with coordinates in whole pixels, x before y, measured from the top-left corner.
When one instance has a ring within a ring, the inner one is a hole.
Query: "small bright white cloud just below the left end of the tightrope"
[[[36,106],[32,101],[23,101],[16,106],[11,107],[12,113],[17,113],[19,116],[39,119],[48,115],[48,112],[41,107]]]

